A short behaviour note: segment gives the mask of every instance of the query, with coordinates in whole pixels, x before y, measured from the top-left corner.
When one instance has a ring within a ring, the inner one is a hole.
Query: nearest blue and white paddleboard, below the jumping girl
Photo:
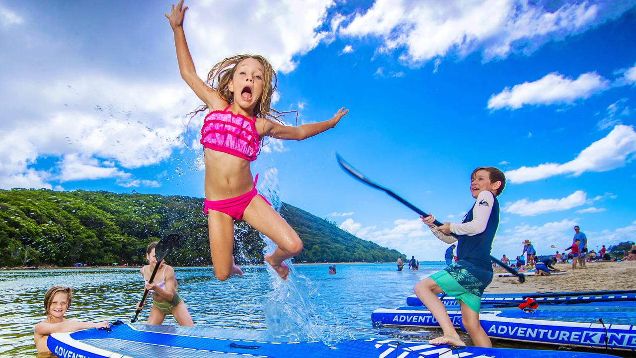
[[[607,358],[608,355],[508,348],[449,347],[396,340],[344,340],[334,345],[319,341],[261,340],[264,331],[206,327],[121,324],[111,332],[86,329],[53,333],[48,348],[58,357],[82,358]]]

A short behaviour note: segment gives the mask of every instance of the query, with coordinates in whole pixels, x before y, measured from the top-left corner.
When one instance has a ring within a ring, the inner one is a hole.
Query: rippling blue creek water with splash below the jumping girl
[[[340,264],[336,275],[328,275],[328,266],[294,266],[289,283],[281,283],[264,266],[244,268],[244,276],[226,282],[216,280],[212,268],[177,268],[176,277],[179,295],[197,325],[264,330],[269,324],[270,332],[279,335],[331,340],[383,333],[371,326],[371,312],[405,306],[413,285],[442,269],[443,263],[422,262],[415,273],[398,272],[395,264]],[[73,303],[66,317],[76,320],[128,322],[143,293],[139,268],[0,271],[0,357],[34,356],[33,326],[45,318],[46,290],[58,284],[73,287]],[[146,306],[140,322],[148,311]],[[291,322],[293,318],[288,317],[294,315],[302,322]],[[176,321],[167,317],[164,324]],[[384,333],[387,331],[400,330],[385,329]],[[439,333],[434,331],[433,336]],[[406,336],[410,340],[430,338]],[[467,339],[466,334],[462,337]],[[556,348],[504,341],[494,341],[494,345]]]

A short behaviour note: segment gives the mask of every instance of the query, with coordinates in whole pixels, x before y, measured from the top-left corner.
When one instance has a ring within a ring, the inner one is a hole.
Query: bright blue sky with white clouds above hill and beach
[[[181,80],[169,2],[0,0],[0,188],[202,197],[202,117]],[[350,112],[300,142],[270,140],[254,173],[282,201],[420,260],[446,245],[355,182],[335,153],[441,221],[497,166],[493,254],[636,240],[635,1],[191,1],[197,71],[251,52],[278,71],[298,123]],[[11,49],[11,50],[6,50]],[[295,124],[294,118],[285,121]]]

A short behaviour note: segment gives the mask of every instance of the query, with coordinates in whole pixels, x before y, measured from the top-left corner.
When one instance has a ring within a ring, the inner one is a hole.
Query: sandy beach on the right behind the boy
[[[593,290],[636,289],[636,261],[586,262],[586,269],[572,270],[572,264],[556,264],[565,275],[527,276],[524,283],[516,277],[495,277],[487,293],[537,293]],[[501,268],[495,272],[504,273]]]

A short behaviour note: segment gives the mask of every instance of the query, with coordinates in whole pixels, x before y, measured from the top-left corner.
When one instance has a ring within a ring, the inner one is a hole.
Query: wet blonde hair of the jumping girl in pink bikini
[[[263,93],[254,108],[254,116],[259,118],[270,117],[279,120],[279,117],[289,112],[279,112],[272,108],[272,94],[278,86],[278,78],[272,64],[270,64],[265,57],[261,55],[235,55],[223,59],[223,61],[214,65],[207,74],[206,83],[212,87],[212,89],[216,90],[219,96],[225,99],[227,103],[232,104],[234,99],[228,86],[230,85],[230,80],[234,77],[237,65],[244,59],[255,59],[263,65]],[[193,111],[192,114],[195,115],[205,110],[208,110],[207,104],[200,106]]]

